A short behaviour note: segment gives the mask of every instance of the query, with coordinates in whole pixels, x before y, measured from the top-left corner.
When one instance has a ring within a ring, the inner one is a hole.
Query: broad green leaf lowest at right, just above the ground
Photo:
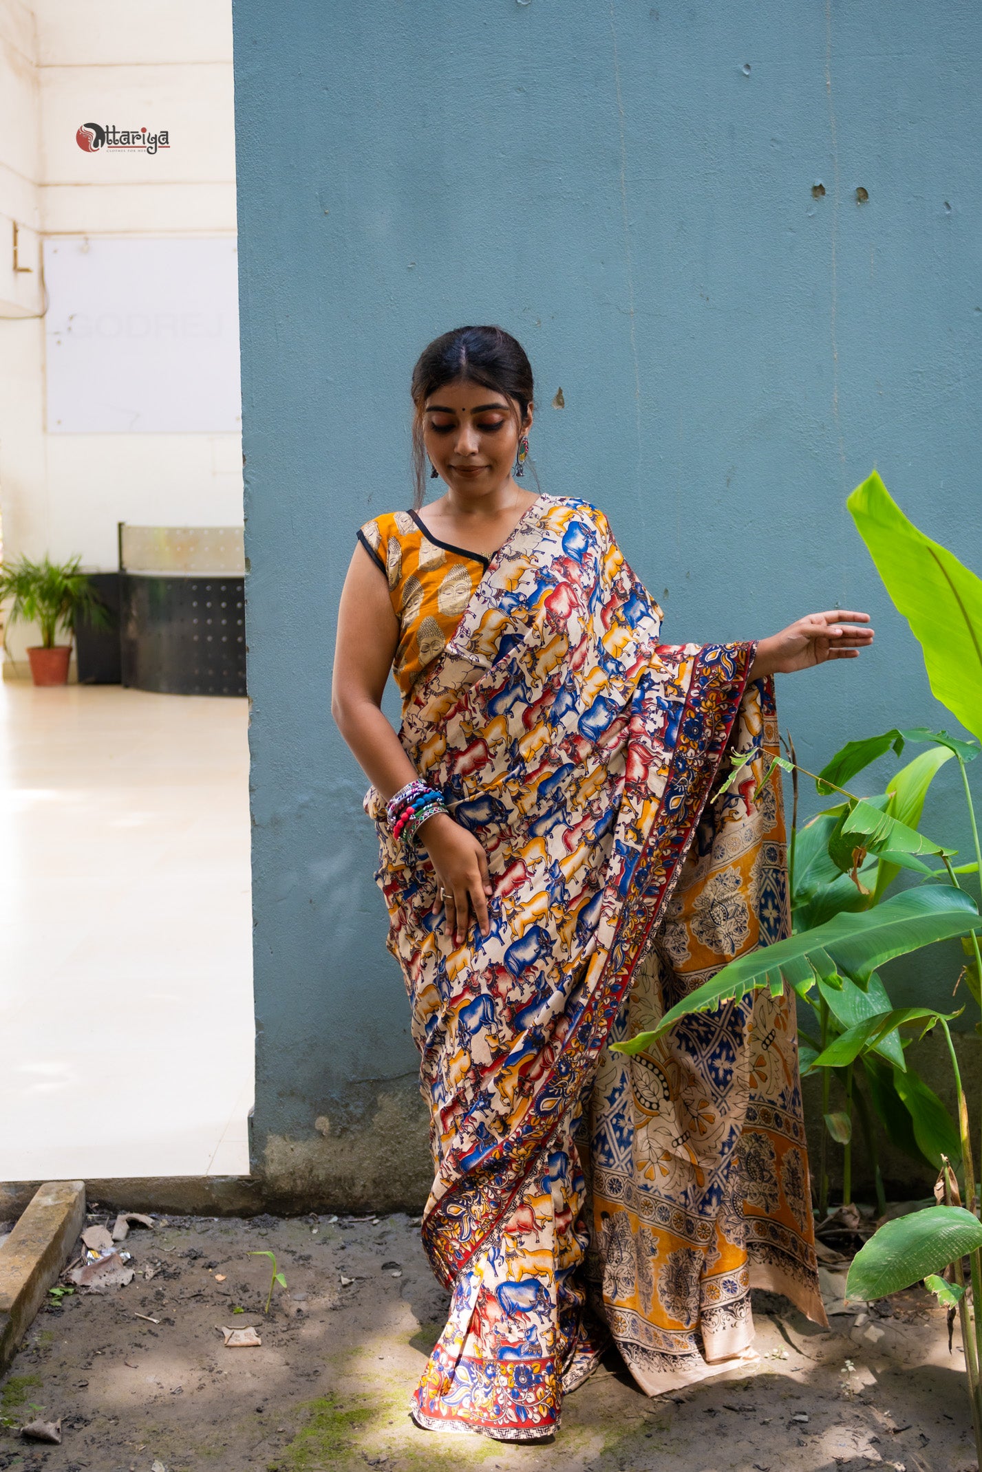
[[[845,1279],[847,1298],[885,1298],[982,1247],[982,1222],[960,1206],[933,1206],[885,1222],[860,1248]]]

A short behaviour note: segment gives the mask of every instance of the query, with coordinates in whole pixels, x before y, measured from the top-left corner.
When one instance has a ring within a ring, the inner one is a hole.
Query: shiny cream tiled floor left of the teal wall
[[[247,1172],[246,724],[0,684],[0,1181]]]

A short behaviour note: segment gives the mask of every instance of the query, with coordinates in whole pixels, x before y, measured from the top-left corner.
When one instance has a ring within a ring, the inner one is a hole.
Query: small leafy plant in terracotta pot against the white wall
[[[78,571],[80,561],[74,556],[68,562],[52,562],[44,556],[32,562],[21,556],[16,562],[0,565],[0,602],[12,599],[7,623],[21,620],[38,624],[41,630],[41,643],[28,649],[35,684],[68,683],[72,633],[80,615],[102,627],[109,624],[109,609],[88,576]],[[65,645],[54,643],[59,629],[68,634]]]

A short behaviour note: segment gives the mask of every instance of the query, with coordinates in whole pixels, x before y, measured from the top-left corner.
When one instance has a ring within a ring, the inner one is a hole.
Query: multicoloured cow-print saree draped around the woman
[[[732,739],[763,760],[754,646],[661,645],[660,617],[602,512],[540,498],[406,701],[411,761],[487,854],[487,936],[452,944],[428,860],[365,799],[430,1107],[423,1236],[452,1292],[424,1426],[552,1435],[611,1332],[645,1388],[705,1372],[749,1342],[752,1269],[814,1309],[780,1004],[693,1019],[630,1064],[605,1047],[786,923],[776,785],[710,801]]]

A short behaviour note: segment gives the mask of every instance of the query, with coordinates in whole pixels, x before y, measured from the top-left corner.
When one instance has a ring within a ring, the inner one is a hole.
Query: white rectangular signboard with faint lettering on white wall
[[[49,291],[47,430],[241,430],[236,241],[56,236]]]

